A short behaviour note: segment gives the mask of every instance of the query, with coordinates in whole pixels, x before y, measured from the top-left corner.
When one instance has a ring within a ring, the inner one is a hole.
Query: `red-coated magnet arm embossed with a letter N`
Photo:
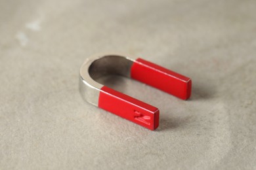
[[[98,107],[151,130],[159,125],[158,108],[107,86],[101,88]]]

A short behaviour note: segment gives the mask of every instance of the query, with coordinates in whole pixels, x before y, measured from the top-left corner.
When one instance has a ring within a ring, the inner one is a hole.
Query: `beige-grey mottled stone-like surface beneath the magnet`
[[[0,169],[256,169],[256,1],[0,1]],[[81,99],[78,71],[125,52],[193,80],[150,131]]]

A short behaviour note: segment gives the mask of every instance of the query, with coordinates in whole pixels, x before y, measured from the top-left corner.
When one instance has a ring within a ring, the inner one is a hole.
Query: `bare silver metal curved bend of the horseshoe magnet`
[[[122,54],[96,54],[87,58],[79,71],[79,91],[83,99],[98,106],[100,89],[104,85],[96,79],[106,75],[130,77],[134,61],[133,57]]]

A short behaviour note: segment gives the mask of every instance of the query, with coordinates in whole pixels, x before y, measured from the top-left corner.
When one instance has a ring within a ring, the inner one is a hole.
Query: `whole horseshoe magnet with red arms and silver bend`
[[[150,61],[122,54],[99,54],[86,59],[79,81],[83,99],[151,130],[159,125],[159,109],[96,82],[106,75],[133,78],[181,99],[188,99],[191,94],[190,78]]]

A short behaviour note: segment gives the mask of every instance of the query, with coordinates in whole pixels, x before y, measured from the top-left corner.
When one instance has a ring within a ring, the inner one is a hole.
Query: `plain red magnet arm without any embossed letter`
[[[131,78],[181,99],[188,99],[191,95],[192,81],[190,78],[141,58],[138,58],[133,63]]]

